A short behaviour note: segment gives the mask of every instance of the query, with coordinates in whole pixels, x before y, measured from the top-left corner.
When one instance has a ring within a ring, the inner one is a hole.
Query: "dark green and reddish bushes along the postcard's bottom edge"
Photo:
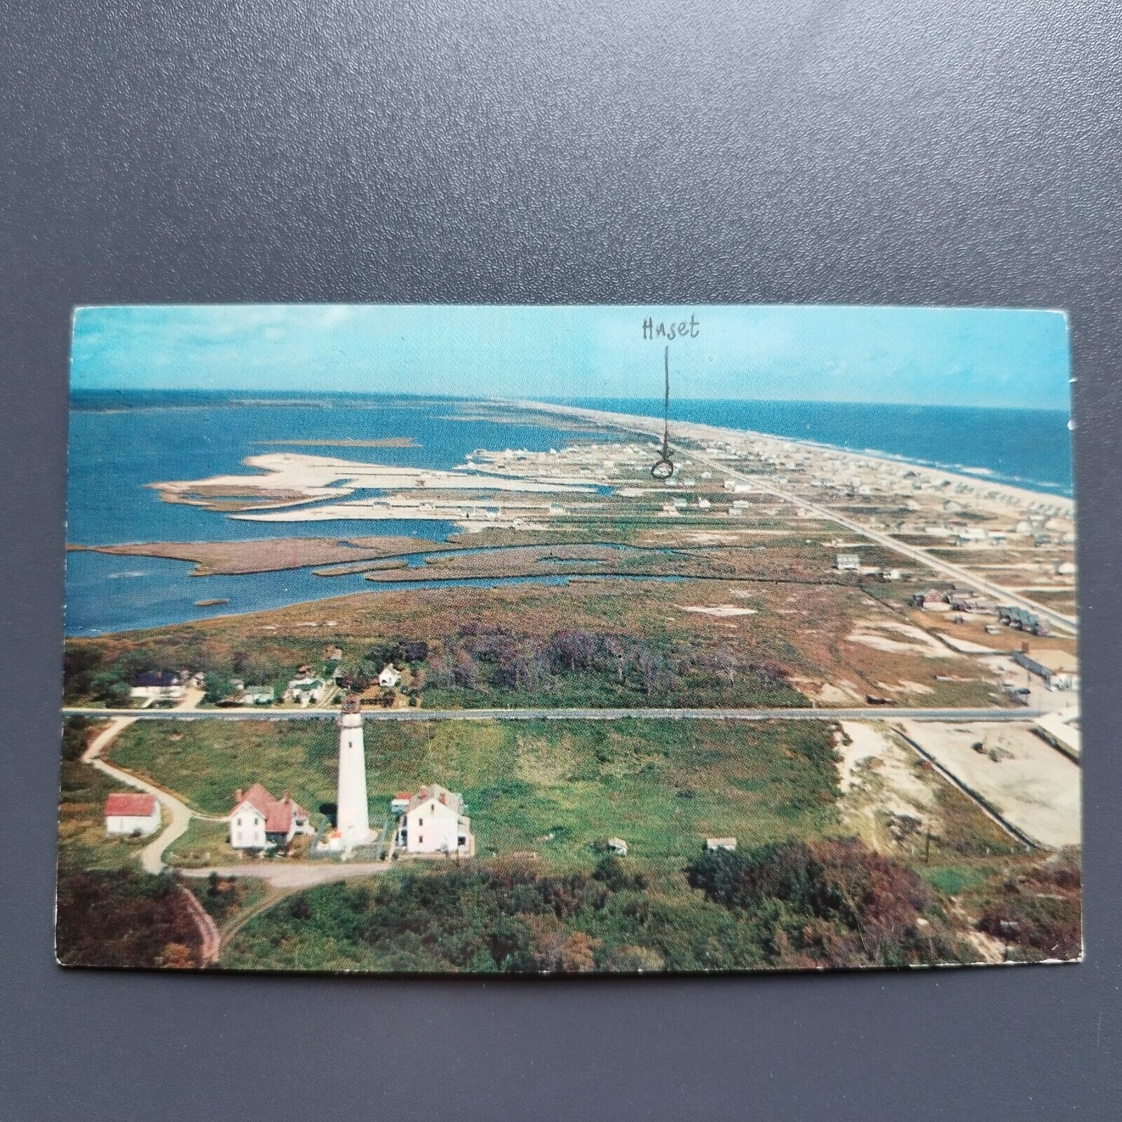
[[[223,965],[635,973],[968,957],[916,876],[857,842],[709,854],[689,876],[697,888],[631,859],[563,874],[498,859],[323,885],[251,919]]]

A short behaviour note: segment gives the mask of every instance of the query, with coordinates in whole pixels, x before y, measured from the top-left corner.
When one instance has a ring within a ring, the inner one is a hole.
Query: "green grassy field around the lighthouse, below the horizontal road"
[[[332,721],[144,721],[112,757],[205,813],[258,780],[314,815],[335,798],[335,737]],[[479,856],[589,864],[591,843],[619,836],[634,858],[680,864],[707,836],[754,845],[839,828],[826,725],[371,723],[366,746],[371,820],[394,792],[439,782],[463,792]],[[175,852],[204,850],[213,825],[193,824]]]

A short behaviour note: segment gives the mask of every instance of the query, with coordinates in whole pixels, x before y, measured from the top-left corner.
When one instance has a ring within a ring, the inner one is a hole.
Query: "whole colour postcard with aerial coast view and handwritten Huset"
[[[55,955],[1083,955],[1063,313],[80,307]]]

